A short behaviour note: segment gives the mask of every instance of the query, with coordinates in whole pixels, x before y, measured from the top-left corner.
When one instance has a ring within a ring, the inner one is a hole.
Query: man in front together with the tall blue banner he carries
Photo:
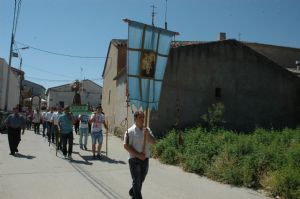
[[[149,126],[151,110],[158,109],[170,42],[178,33],[129,19],[124,21],[128,23],[127,107],[134,105],[137,110],[145,111],[145,115],[142,111],[135,112],[135,124],[124,136],[132,177],[129,194],[134,199],[141,199],[142,184],[148,172],[149,143],[155,142],[151,130],[145,127]]]

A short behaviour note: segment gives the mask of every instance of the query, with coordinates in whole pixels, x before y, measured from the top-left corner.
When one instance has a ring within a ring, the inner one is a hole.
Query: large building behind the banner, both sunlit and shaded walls
[[[126,40],[112,40],[102,73],[102,106],[111,131],[126,130]],[[225,127],[296,127],[300,121],[300,49],[226,40],[173,42],[151,128],[163,134],[201,122],[212,104],[225,105]],[[134,109],[134,107],[133,107]],[[129,125],[133,123],[129,109]]]

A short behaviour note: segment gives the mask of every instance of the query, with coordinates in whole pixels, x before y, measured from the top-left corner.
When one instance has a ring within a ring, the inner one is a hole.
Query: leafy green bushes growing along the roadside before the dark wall
[[[169,132],[154,145],[154,157],[214,180],[300,199],[300,129],[237,134],[197,127],[183,135],[178,146],[178,134]]]

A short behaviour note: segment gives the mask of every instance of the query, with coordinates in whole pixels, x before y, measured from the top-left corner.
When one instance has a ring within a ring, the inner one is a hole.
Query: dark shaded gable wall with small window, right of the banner
[[[151,114],[153,128],[171,128],[178,115],[176,107],[182,127],[197,124],[218,102],[225,106],[225,127],[229,129],[296,127],[300,79],[235,40],[173,48],[159,110]]]

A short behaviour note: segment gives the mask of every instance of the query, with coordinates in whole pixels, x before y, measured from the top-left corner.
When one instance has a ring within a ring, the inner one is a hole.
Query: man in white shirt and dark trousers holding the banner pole
[[[136,111],[134,122],[124,135],[124,148],[129,153],[129,169],[132,187],[129,195],[134,199],[142,199],[142,185],[149,168],[149,144],[155,143],[152,131],[144,127],[144,113]]]

